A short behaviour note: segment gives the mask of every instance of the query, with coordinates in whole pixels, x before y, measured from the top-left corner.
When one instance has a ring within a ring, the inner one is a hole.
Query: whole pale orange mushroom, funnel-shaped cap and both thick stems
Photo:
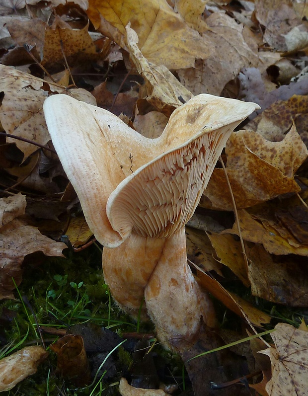
[[[118,305],[133,315],[145,298],[161,340],[190,339],[211,300],[186,257],[193,215],[233,129],[258,106],[201,94],[177,108],[159,138],[67,95],[46,99],[54,147],[86,221],[104,245],[103,272]]]

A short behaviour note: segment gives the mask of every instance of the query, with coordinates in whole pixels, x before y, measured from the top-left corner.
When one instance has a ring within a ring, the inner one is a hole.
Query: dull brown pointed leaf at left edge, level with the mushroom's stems
[[[66,245],[43,236],[36,227],[28,226],[24,220],[16,218],[23,215],[26,198],[21,194],[0,199],[0,299],[13,298],[12,277],[18,285],[21,282],[21,264],[24,256],[42,251],[48,256],[63,256]]]

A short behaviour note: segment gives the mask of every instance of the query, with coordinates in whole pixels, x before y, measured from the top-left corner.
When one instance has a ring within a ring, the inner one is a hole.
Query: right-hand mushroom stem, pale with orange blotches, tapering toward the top
[[[200,328],[201,317],[209,327],[215,327],[212,302],[201,291],[187,263],[184,227],[165,239],[145,289],[145,300],[161,341],[192,340]]]

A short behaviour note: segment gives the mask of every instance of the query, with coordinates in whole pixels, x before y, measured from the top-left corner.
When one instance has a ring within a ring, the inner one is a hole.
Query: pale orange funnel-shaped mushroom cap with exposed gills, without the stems
[[[256,108],[198,95],[172,113],[159,138],[148,139],[109,111],[68,95],[44,103],[53,144],[89,227],[109,247],[132,230],[163,238],[184,225],[231,131]]]

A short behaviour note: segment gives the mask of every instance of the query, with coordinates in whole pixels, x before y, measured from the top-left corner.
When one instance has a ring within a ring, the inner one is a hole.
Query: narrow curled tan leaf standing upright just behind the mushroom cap
[[[181,106],[183,101],[187,102],[192,95],[165,66],[149,63],[137,46],[136,32],[129,26],[126,31],[130,57],[146,81],[140,97],[145,97],[158,111],[169,117],[176,107]]]

